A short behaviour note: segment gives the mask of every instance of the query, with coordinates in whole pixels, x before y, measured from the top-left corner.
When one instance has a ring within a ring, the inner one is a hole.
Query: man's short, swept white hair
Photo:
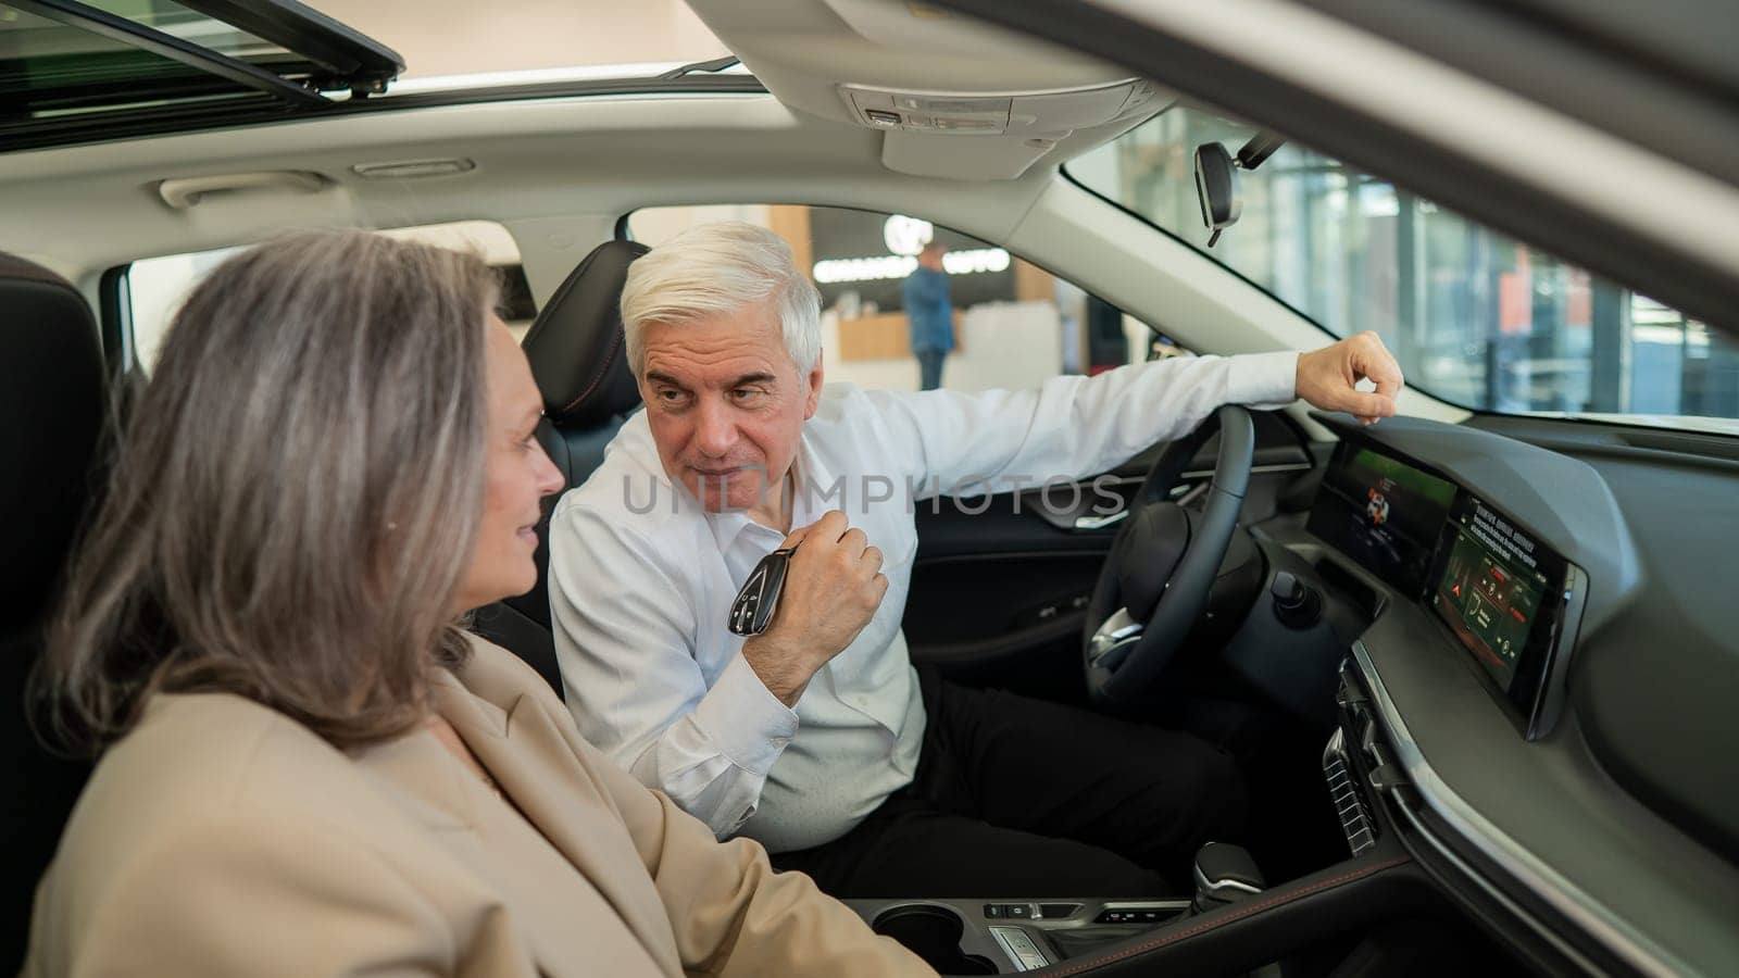
[[[628,266],[623,327],[628,365],[645,369],[645,327],[683,324],[765,305],[779,317],[800,374],[821,358],[821,294],[784,238],[744,221],[696,224]]]

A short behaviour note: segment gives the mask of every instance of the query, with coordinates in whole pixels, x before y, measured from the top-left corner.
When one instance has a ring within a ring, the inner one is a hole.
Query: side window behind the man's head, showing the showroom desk
[[[805,205],[647,207],[628,230],[657,247],[706,221],[750,221],[786,238],[821,291],[823,365],[830,381],[916,390],[925,355],[948,324],[941,386],[1028,388],[1057,374],[1094,374],[1186,353],[1066,278],[920,216]],[[946,245],[946,318],[936,289],[908,278],[925,244]],[[923,308],[908,308],[916,301]],[[913,320],[916,317],[916,331]],[[916,336],[915,336],[916,332]]]

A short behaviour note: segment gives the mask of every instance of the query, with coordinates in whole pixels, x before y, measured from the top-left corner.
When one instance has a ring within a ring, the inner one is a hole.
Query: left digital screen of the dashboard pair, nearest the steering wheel
[[[1417,597],[1454,499],[1452,482],[1343,440],[1306,529]]]

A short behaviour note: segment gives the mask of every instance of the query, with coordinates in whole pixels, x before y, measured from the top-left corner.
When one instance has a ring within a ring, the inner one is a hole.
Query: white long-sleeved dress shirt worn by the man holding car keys
[[[550,520],[550,611],[579,731],[720,837],[741,832],[774,853],[838,839],[918,766],[923,703],[899,628],[915,506],[1111,470],[1221,404],[1290,402],[1296,372],[1297,353],[1257,353],[976,395],[828,385],[793,463],[791,526],[843,510],[882,548],[889,586],[795,710],[725,626],[784,534],[743,512],[703,512],[635,414]]]

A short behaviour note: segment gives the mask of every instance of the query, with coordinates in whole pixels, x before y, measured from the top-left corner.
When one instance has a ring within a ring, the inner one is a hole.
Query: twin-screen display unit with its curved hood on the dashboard
[[[1605,484],[1584,463],[1466,428],[1323,419],[1341,444],[1306,529],[1428,606],[1523,734],[1546,734],[1584,616],[1610,616],[1636,583]],[[1593,606],[1584,564],[1602,573]]]

